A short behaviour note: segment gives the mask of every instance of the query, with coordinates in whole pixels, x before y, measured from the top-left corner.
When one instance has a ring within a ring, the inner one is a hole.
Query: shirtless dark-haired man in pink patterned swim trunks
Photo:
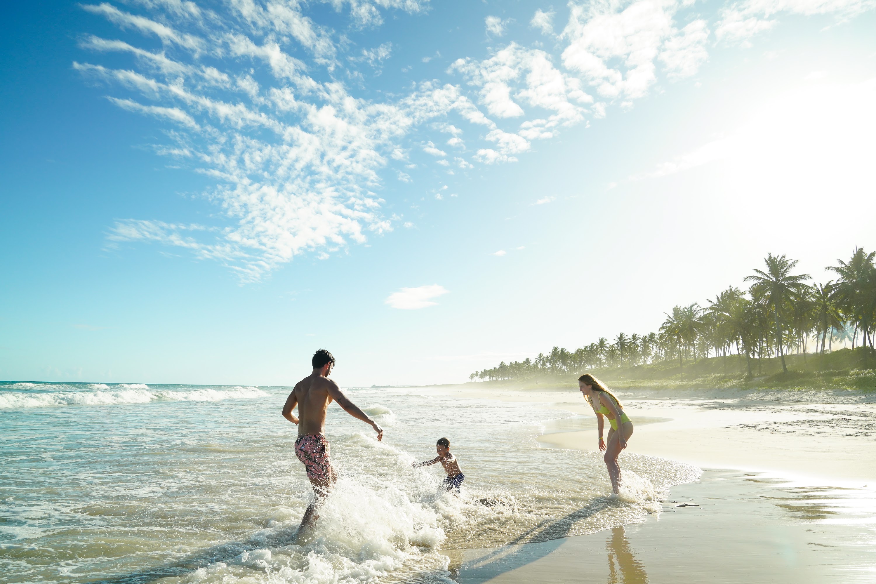
[[[295,454],[307,470],[307,478],[314,487],[317,499],[307,506],[304,517],[301,517],[299,533],[316,519],[314,512],[317,505],[322,497],[328,495],[329,489],[337,480],[335,469],[329,460],[329,440],[325,437],[326,410],[332,400],[353,418],[370,424],[374,432],[378,433],[378,440],[383,440],[383,428],[343,395],[337,383],[329,379],[329,373],[335,366],[335,357],[321,348],[314,354],[313,366],[314,372],[295,384],[283,405],[283,417],[298,425]],[[298,418],[292,413],[295,405],[298,405]]]

